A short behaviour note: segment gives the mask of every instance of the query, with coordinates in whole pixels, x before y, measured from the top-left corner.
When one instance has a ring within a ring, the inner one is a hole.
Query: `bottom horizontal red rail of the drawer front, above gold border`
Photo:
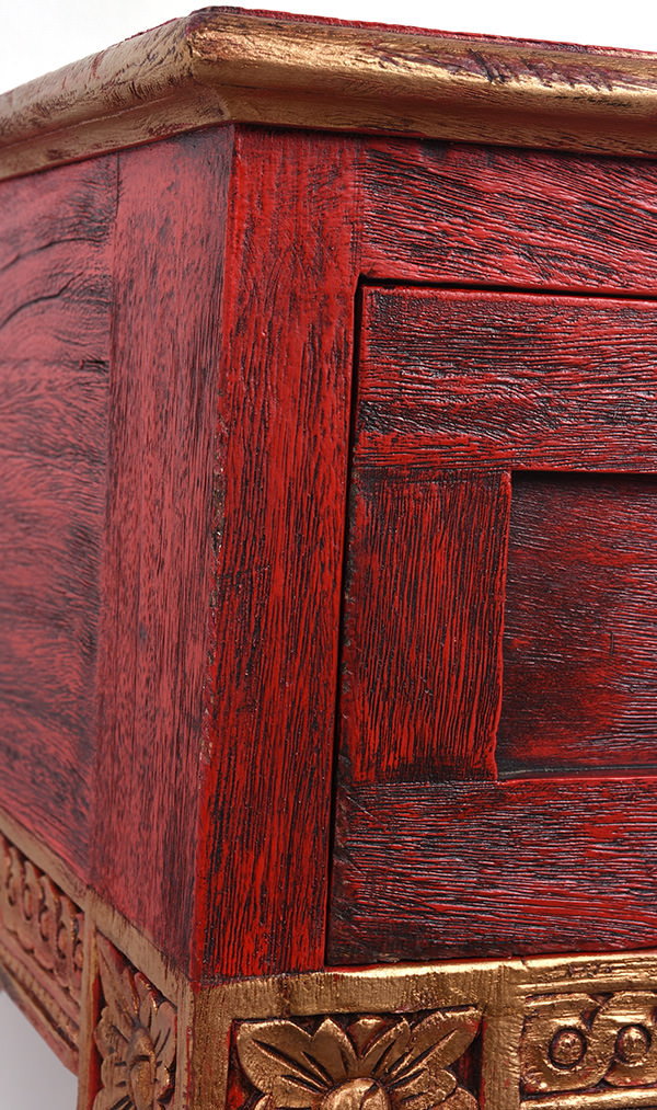
[[[654,948],[656,801],[640,778],[345,793],[328,962]]]

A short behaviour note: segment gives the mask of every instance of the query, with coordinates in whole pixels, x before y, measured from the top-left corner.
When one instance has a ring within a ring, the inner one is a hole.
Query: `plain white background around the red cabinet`
[[[290,0],[277,10],[657,51],[654,0],[463,0],[449,7],[423,0]],[[188,13],[174,0],[0,0],[0,91]],[[0,995],[0,1110],[74,1106],[73,1077]]]

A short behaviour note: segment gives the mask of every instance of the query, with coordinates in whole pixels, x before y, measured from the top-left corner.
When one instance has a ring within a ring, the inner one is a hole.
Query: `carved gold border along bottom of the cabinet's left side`
[[[78,1073],[78,1110],[188,1106],[188,982],[2,813],[0,980]]]

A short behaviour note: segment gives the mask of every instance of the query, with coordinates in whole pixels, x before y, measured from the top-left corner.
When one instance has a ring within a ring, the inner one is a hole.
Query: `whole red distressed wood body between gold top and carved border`
[[[655,167],[219,128],[0,196],[3,806],[199,981],[327,909],[577,948],[578,882],[654,942]]]

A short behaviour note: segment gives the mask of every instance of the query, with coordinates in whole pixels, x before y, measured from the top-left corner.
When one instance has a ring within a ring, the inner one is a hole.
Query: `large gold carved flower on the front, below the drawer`
[[[476,1110],[449,1064],[472,1042],[474,1007],[406,1018],[324,1018],[315,1032],[294,1021],[243,1022],[237,1057],[261,1092],[255,1110]]]

